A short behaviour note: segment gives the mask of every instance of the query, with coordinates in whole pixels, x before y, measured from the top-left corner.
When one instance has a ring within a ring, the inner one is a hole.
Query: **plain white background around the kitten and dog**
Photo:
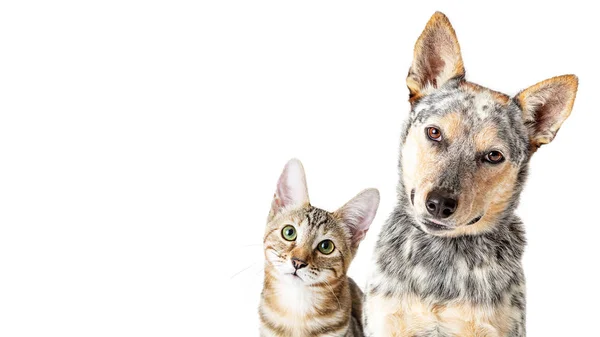
[[[502,5],[500,5],[502,3]],[[412,48],[435,10],[469,80],[574,73],[573,113],[518,213],[530,336],[597,335],[598,53],[585,2],[3,2],[0,335],[254,336],[275,183],[314,205],[395,203]]]

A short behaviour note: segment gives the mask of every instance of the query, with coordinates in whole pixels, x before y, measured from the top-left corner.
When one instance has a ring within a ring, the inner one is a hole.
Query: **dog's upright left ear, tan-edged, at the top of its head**
[[[433,14],[415,44],[406,85],[411,103],[455,77],[464,77],[465,68],[454,28],[440,12]]]

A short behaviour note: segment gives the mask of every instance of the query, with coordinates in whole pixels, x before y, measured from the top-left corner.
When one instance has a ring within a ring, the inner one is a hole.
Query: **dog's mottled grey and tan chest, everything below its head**
[[[513,233],[446,240],[406,227],[390,234],[380,238],[366,291],[368,335],[523,335],[522,247]]]

